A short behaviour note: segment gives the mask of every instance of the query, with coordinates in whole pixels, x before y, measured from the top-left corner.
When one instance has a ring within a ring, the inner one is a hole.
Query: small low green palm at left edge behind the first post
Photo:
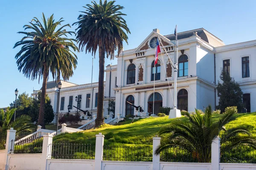
[[[0,110],[0,134],[1,136],[6,136],[6,130],[13,127],[16,130],[16,137],[24,132],[32,132],[32,128],[36,127],[31,123],[31,118],[28,115],[21,115],[12,121],[12,116],[15,113],[15,108],[7,108],[6,112],[2,109]]]

